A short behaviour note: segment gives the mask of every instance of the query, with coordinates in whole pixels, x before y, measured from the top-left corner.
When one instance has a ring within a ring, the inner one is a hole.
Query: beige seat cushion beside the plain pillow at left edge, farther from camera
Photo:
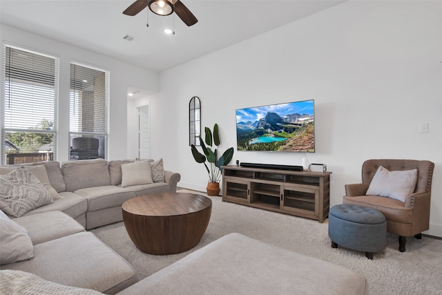
[[[28,231],[33,245],[85,231],[75,219],[61,211],[49,211],[14,220]]]

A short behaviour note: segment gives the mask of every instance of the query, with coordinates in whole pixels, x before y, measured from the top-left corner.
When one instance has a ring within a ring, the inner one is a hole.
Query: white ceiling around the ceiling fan
[[[191,27],[147,8],[123,15],[134,1],[0,0],[0,21],[161,72],[347,0],[182,0],[198,19]],[[175,35],[166,35],[173,23]],[[140,40],[125,41],[126,34]]]

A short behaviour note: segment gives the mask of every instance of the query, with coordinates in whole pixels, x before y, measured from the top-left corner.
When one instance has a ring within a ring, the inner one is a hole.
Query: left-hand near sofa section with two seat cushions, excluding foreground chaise
[[[6,218],[0,218],[1,260],[19,259],[1,265],[0,294],[75,294],[54,284],[116,294],[138,281],[126,260],[66,213],[48,211],[9,220],[21,229],[16,231],[9,229]],[[7,256],[6,247],[14,247],[14,253]]]

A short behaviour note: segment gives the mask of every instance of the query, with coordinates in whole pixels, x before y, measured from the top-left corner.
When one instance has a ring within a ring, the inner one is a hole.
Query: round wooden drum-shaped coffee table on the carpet
[[[124,226],[141,251],[177,254],[200,242],[212,211],[212,200],[194,193],[155,193],[123,203]]]

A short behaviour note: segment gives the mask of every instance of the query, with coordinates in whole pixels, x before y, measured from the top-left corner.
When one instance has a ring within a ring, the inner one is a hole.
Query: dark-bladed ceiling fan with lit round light
[[[137,0],[126,8],[123,14],[134,16],[146,7],[155,15],[171,15],[175,12],[187,26],[193,26],[198,22],[198,19],[180,0]]]

